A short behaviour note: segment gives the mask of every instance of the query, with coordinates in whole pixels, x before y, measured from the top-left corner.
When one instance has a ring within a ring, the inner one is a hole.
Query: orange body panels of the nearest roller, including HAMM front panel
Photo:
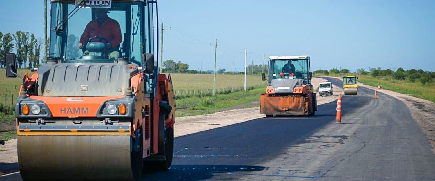
[[[26,72],[24,75],[24,85],[20,86],[23,89],[23,86],[27,89],[31,89],[31,87],[38,80],[38,73],[35,72],[31,77]],[[134,105],[134,118],[132,120],[130,132],[123,131],[115,131],[115,132],[89,132],[89,131],[77,131],[75,129],[71,129],[70,131],[57,131],[57,132],[47,132],[47,131],[27,131],[20,130],[18,128],[18,119],[16,122],[17,125],[17,134],[18,135],[131,135],[135,137],[134,132],[143,128],[143,158],[148,157],[149,155],[154,155],[159,153],[158,148],[158,132],[151,132],[151,129],[158,130],[159,127],[159,115],[160,115],[160,103],[162,100],[167,100],[169,105],[175,108],[175,97],[174,97],[174,89],[172,87],[172,79],[171,75],[166,76],[165,74],[158,74],[157,76],[157,84],[156,92],[154,99],[150,99],[144,93],[144,78],[143,74],[139,73],[136,76],[131,78],[131,90],[134,93],[135,105]],[[20,95],[20,93],[19,93]],[[52,118],[68,118],[69,120],[80,119],[80,118],[96,118],[97,112],[100,111],[101,105],[104,102],[112,99],[123,98],[126,95],[117,95],[117,96],[82,96],[82,97],[44,97],[37,95],[26,95],[30,99],[39,100],[44,102],[48,109],[51,112]],[[73,101],[71,101],[73,100]],[[74,101],[75,100],[75,101]],[[152,102],[152,105],[151,105]],[[144,108],[144,110],[141,110]],[[152,111],[152,114],[151,114]],[[152,116],[151,116],[152,115]],[[170,115],[165,120],[165,124],[168,127],[174,128],[175,123],[175,109],[171,110]],[[152,134],[152,136],[151,136]],[[152,140],[150,139],[152,138]],[[151,146],[153,145],[153,146]],[[152,147],[152,150],[150,150]],[[147,153],[147,151],[150,151]]]

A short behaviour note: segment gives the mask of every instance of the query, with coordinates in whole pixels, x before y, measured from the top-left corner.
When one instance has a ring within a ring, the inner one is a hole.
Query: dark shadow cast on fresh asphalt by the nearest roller
[[[169,171],[144,172],[143,181],[201,181],[208,180],[219,173],[254,172],[265,170],[262,166],[249,165],[172,165]]]

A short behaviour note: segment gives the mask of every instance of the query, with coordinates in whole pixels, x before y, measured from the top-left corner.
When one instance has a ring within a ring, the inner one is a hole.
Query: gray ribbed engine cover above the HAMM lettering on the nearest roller
[[[38,69],[38,95],[116,96],[126,95],[130,76],[137,71],[117,63],[60,63]],[[119,89],[119,90],[118,90]]]

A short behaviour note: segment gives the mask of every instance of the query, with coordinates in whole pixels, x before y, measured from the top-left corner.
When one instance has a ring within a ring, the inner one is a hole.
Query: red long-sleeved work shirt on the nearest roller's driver
[[[121,28],[119,23],[109,17],[107,17],[107,20],[102,25],[98,25],[97,19],[90,21],[80,37],[80,43],[86,44],[89,39],[94,36],[103,36],[109,40],[110,43],[112,43],[112,48],[117,47],[122,42]],[[99,41],[100,39],[98,38],[91,40],[91,42]],[[102,40],[102,42],[107,43],[104,42],[104,40]]]

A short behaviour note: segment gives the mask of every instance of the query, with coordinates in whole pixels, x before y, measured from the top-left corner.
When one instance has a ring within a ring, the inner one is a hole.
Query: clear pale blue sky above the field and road
[[[109,14],[110,16],[110,14]],[[2,0],[0,31],[43,37],[43,0]],[[434,0],[160,0],[163,58],[243,70],[263,54],[309,55],[311,68],[435,71]],[[160,23],[160,22],[159,22]]]

